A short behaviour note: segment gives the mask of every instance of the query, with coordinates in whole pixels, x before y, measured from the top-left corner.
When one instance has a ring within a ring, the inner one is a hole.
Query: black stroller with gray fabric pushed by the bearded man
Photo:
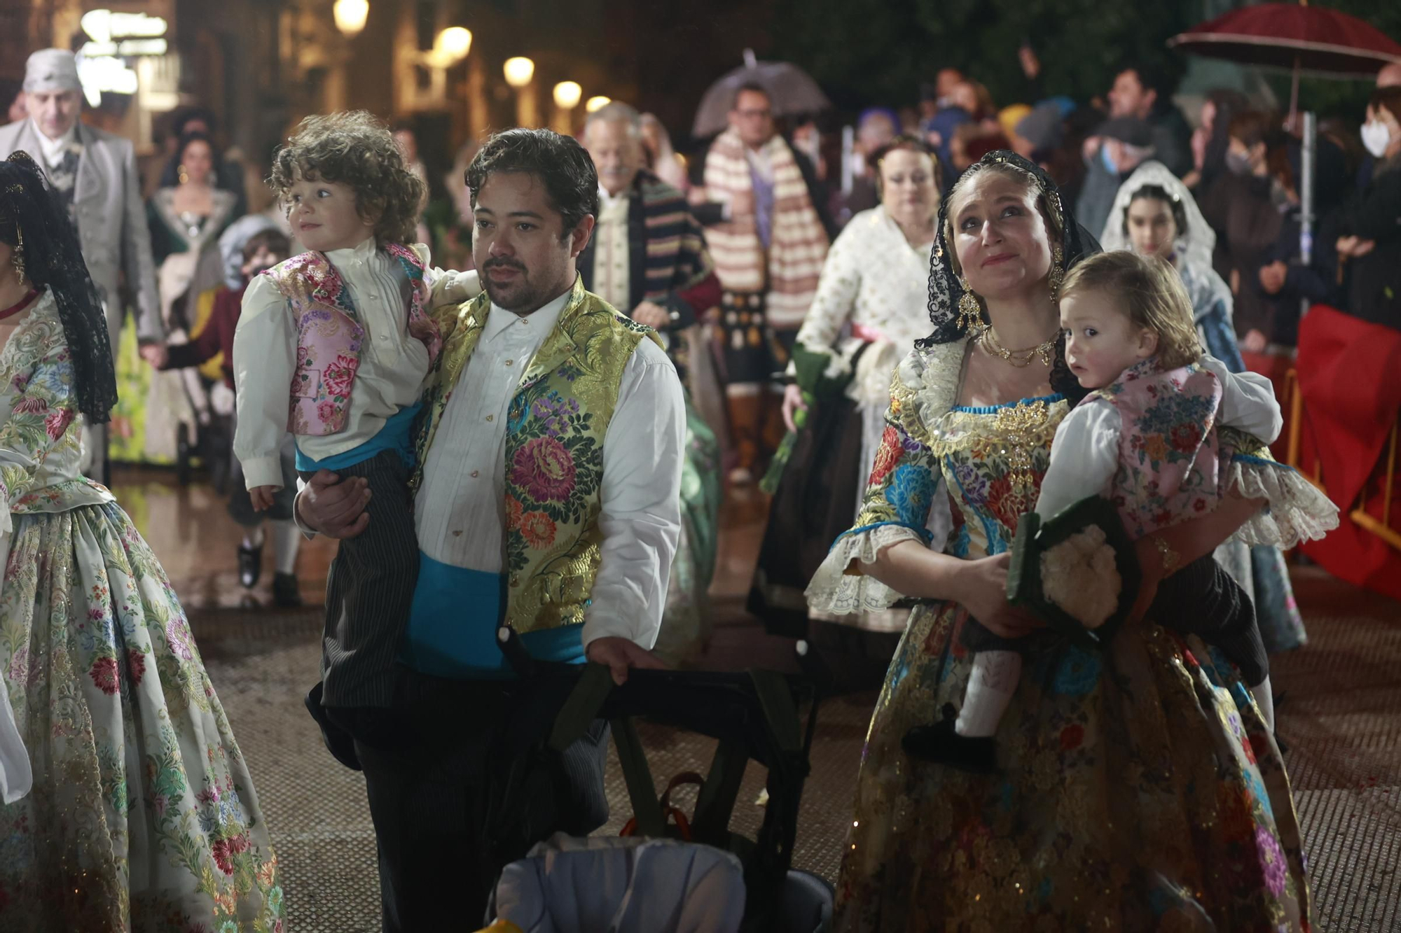
[[[523,677],[541,677],[513,633],[503,651]],[[559,677],[551,671],[544,679]],[[558,689],[558,688],[556,688]],[[546,691],[549,692],[549,691]],[[810,706],[807,721],[799,716]],[[635,717],[717,740],[693,818],[668,821],[656,796]],[[611,724],[633,807],[630,838],[555,836],[506,867],[486,922],[521,933],[815,933],[827,929],[832,888],[790,870],[797,813],[817,726],[817,692],[806,677],[773,671],[635,670],[615,686],[588,664],[559,706],[545,742],[559,754],[595,719]],[[768,806],[754,839],[730,831],[745,766],[768,768]],[[507,801],[502,801],[506,804]]]

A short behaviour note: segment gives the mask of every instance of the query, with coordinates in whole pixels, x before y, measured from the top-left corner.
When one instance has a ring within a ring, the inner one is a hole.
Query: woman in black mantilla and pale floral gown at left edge
[[[0,930],[280,932],[277,860],[185,614],[78,472],[77,416],[116,399],[106,326],[22,153],[0,163],[0,681],[34,773],[0,804]]]

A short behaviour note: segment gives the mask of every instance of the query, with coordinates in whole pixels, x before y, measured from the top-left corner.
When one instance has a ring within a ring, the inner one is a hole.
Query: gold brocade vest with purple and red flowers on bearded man
[[[439,311],[443,357],[423,392],[413,492],[490,307],[483,293]],[[586,291],[576,277],[559,322],[521,374],[507,413],[504,469],[506,623],[517,632],[584,621],[602,541],[604,438],[623,368],[643,338],[660,346],[650,328]]]

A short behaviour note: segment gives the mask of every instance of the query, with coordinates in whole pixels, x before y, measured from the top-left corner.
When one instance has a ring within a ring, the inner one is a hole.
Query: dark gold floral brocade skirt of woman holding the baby
[[[836,930],[1309,930],[1289,779],[1234,668],[1143,623],[1030,653],[999,772],[912,762],[958,706],[967,612],[920,607],[862,754]]]

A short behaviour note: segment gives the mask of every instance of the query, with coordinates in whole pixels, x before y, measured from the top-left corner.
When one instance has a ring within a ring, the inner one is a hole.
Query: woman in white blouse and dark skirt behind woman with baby
[[[929,333],[925,301],[941,188],[937,163],[913,136],[894,139],[873,161],[881,203],[852,217],[832,242],[797,332],[797,363],[789,367],[797,381],[783,398],[785,420],[792,427],[803,392],[815,395],[817,403],[775,490],[751,588],[750,611],[771,629],[793,635],[807,630],[803,588],[832,539],[860,511],[885,427],[891,370]],[[842,396],[822,398],[817,373],[827,384],[848,380]],[[811,615],[899,632],[908,611]]]

